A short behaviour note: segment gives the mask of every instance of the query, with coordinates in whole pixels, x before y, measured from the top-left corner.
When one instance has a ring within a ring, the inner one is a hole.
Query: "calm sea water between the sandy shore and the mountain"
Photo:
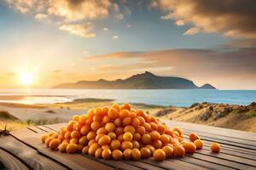
[[[0,102],[50,104],[73,99],[115,99],[118,103],[190,106],[195,102],[249,105],[256,101],[256,90],[199,89],[0,89]]]

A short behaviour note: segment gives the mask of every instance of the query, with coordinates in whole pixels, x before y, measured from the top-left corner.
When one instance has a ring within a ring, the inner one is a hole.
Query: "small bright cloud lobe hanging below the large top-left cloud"
[[[80,37],[96,37],[95,33],[90,32],[90,25],[62,25],[59,27],[59,29],[62,31],[68,31],[70,34],[77,35]]]

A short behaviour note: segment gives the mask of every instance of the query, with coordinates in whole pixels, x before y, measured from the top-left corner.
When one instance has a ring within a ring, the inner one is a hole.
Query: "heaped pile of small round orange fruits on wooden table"
[[[41,139],[51,150],[135,161],[150,156],[154,156],[155,161],[183,157],[204,144],[195,133],[190,133],[190,141],[185,141],[180,128],[169,128],[158,118],[134,110],[127,103],[98,107],[87,114],[73,116],[67,126],[57,133],[44,134]],[[218,152],[219,145],[214,143],[211,149]]]

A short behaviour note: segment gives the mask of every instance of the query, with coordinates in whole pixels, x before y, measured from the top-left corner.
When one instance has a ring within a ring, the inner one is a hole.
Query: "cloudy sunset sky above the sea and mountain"
[[[253,0],[1,0],[0,88],[151,71],[256,89],[255,8]]]

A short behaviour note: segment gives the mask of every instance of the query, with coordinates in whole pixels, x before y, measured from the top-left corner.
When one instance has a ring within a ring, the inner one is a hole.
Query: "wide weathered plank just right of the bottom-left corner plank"
[[[11,136],[1,137],[0,143],[0,148],[12,153],[26,163],[26,166],[31,167],[32,169],[67,169],[67,167],[63,167],[55,161],[51,161],[44,156],[38,155],[37,150],[33,150],[26,144],[20,143],[20,141]]]

